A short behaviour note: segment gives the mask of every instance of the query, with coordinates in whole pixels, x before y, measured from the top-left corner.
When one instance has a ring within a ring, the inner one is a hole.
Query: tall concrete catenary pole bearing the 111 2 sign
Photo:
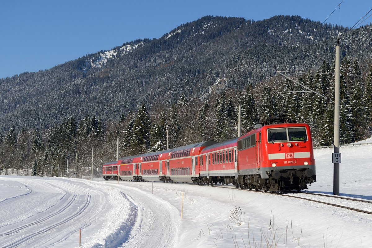
[[[334,153],[340,152],[340,46],[337,39],[334,84]],[[340,195],[340,164],[333,164],[333,194]]]

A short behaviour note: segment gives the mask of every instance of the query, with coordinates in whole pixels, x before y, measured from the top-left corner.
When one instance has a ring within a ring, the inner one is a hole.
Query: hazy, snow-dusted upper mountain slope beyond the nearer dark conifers
[[[371,49],[365,48],[371,48],[370,30],[353,30],[342,39],[343,53],[369,56]],[[117,47],[115,57],[101,67],[96,61],[102,53],[97,53],[50,70],[1,79],[1,126],[44,128],[86,114],[117,120],[142,102],[150,110],[153,105],[175,103],[181,93],[207,100],[211,91],[241,90],[247,83],[272,77],[276,70],[304,71],[316,68],[323,59],[331,61],[333,46],[320,57],[316,52],[346,31],[299,16],[259,22],[206,16],[159,39]],[[84,73],[86,60],[89,68]]]

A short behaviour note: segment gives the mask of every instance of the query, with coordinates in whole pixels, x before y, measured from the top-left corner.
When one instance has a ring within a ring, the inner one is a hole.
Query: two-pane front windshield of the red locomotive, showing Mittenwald
[[[275,128],[267,130],[269,142],[307,141],[305,128]]]

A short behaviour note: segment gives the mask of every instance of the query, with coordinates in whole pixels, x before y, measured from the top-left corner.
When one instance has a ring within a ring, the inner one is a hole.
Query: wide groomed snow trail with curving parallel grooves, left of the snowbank
[[[76,233],[78,229],[89,226],[90,218],[100,214],[100,209],[96,207],[103,203],[101,202],[102,191],[94,192],[92,189],[84,189],[68,180],[47,181],[33,178],[17,178],[16,180],[24,183],[31,189],[31,192],[3,201],[2,209],[5,209],[5,212],[20,212],[21,214],[17,218],[13,215],[2,215],[0,219],[1,247],[58,245]],[[92,194],[95,196],[93,203]],[[25,206],[22,202],[29,204]],[[6,222],[6,225],[3,222]]]

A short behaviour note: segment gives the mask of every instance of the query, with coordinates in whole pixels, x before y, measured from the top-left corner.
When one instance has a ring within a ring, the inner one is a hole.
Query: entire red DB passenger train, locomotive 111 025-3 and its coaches
[[[232,183],[264,191],[299,191],[316,181],[310,127],[305,123],[258,126],[218,144],[207,141],[122,158],[103,165],[103,178],[117,179],[118,170],[122,180]]]

